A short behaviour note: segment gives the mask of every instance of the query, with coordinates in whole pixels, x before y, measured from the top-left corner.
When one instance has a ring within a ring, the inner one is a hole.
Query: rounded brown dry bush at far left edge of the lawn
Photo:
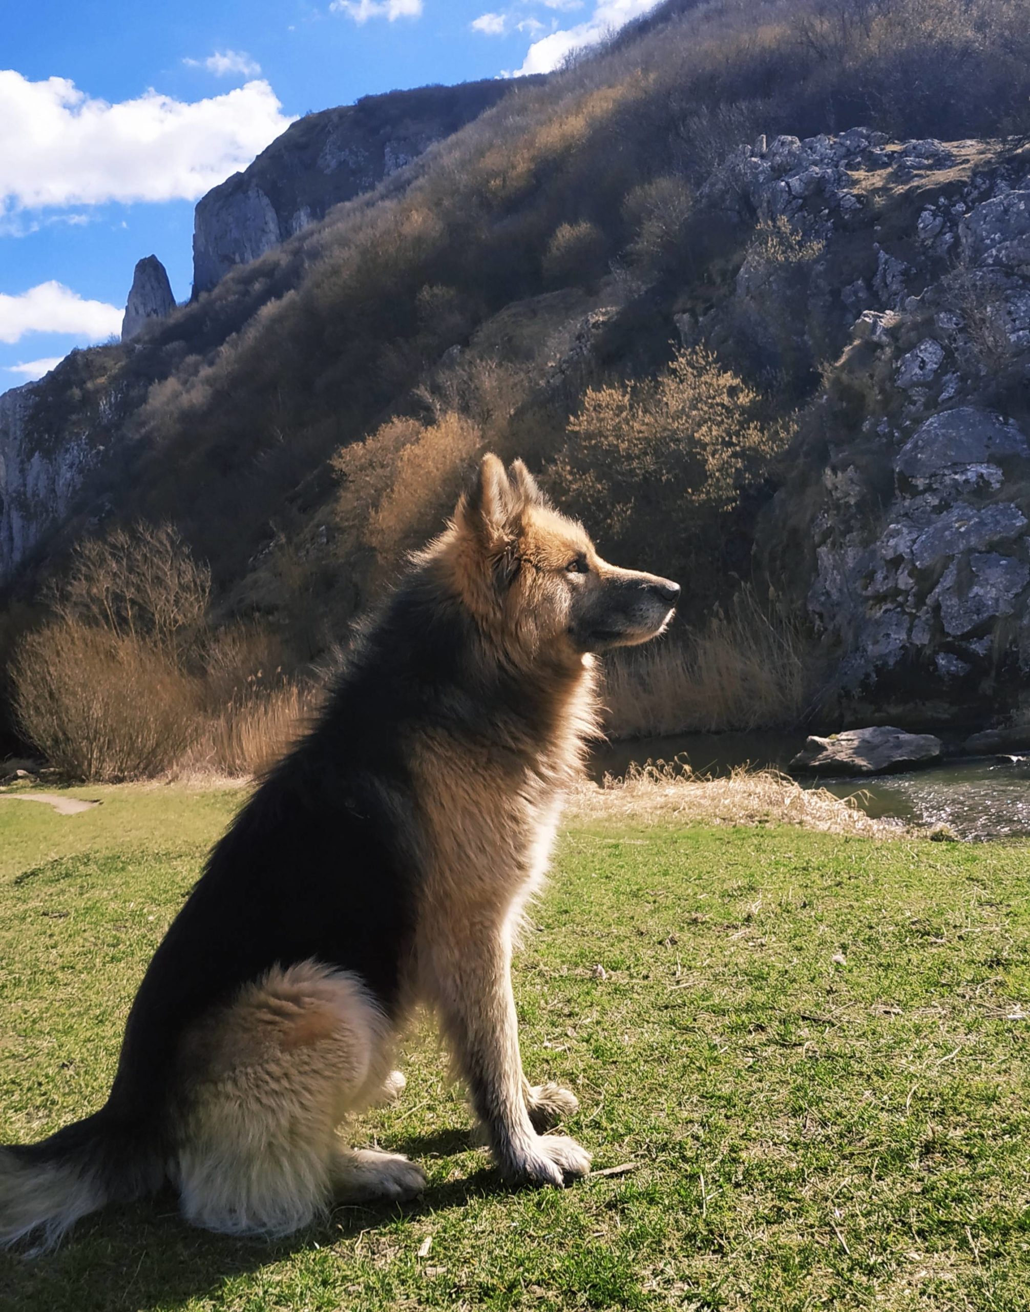
[[[12,681],[22,733],[76,778],[151,778],[199,732],[195,678],[144,639],[75,619],[28,634]]]

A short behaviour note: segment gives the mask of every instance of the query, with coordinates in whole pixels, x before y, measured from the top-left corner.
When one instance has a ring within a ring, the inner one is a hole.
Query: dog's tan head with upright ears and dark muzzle
[[[582,525],[560,514],[532,475],[486,455],[439,546],[449,581],[506,653],[579,663],[655,638],[679,584],[601,560]]]

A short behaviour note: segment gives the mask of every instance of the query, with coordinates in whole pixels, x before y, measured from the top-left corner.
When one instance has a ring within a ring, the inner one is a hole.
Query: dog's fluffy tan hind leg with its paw
[[[333,1197],[413,1197],[425,1177],[385,1153],[355,1155],[343,1118],[389,1071],[389,1035],[359,980],[313,962],[270,971],[186,1036],[189,1103],[176,1177],[187,1220],[287,1235]]]

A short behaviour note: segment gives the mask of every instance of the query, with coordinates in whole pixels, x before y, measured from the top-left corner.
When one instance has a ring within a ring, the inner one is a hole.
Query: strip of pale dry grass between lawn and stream
[[[726,777],[696,774],[683,761],[633,765],[622,778],[583,783],[570,811],[583,819],[675,820],[677,824],[795,824],[822,833],[896,838],[900,825],[873,820],[852,799],[802,789],[778,770],[736,769]]]

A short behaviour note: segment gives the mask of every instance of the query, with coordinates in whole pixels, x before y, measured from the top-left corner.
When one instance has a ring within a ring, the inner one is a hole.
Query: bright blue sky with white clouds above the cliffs
[[[7,0],[0,391],[121,332],[136,260],[189,299],[193,210],[308,110],[548,72],[658,0]]]

